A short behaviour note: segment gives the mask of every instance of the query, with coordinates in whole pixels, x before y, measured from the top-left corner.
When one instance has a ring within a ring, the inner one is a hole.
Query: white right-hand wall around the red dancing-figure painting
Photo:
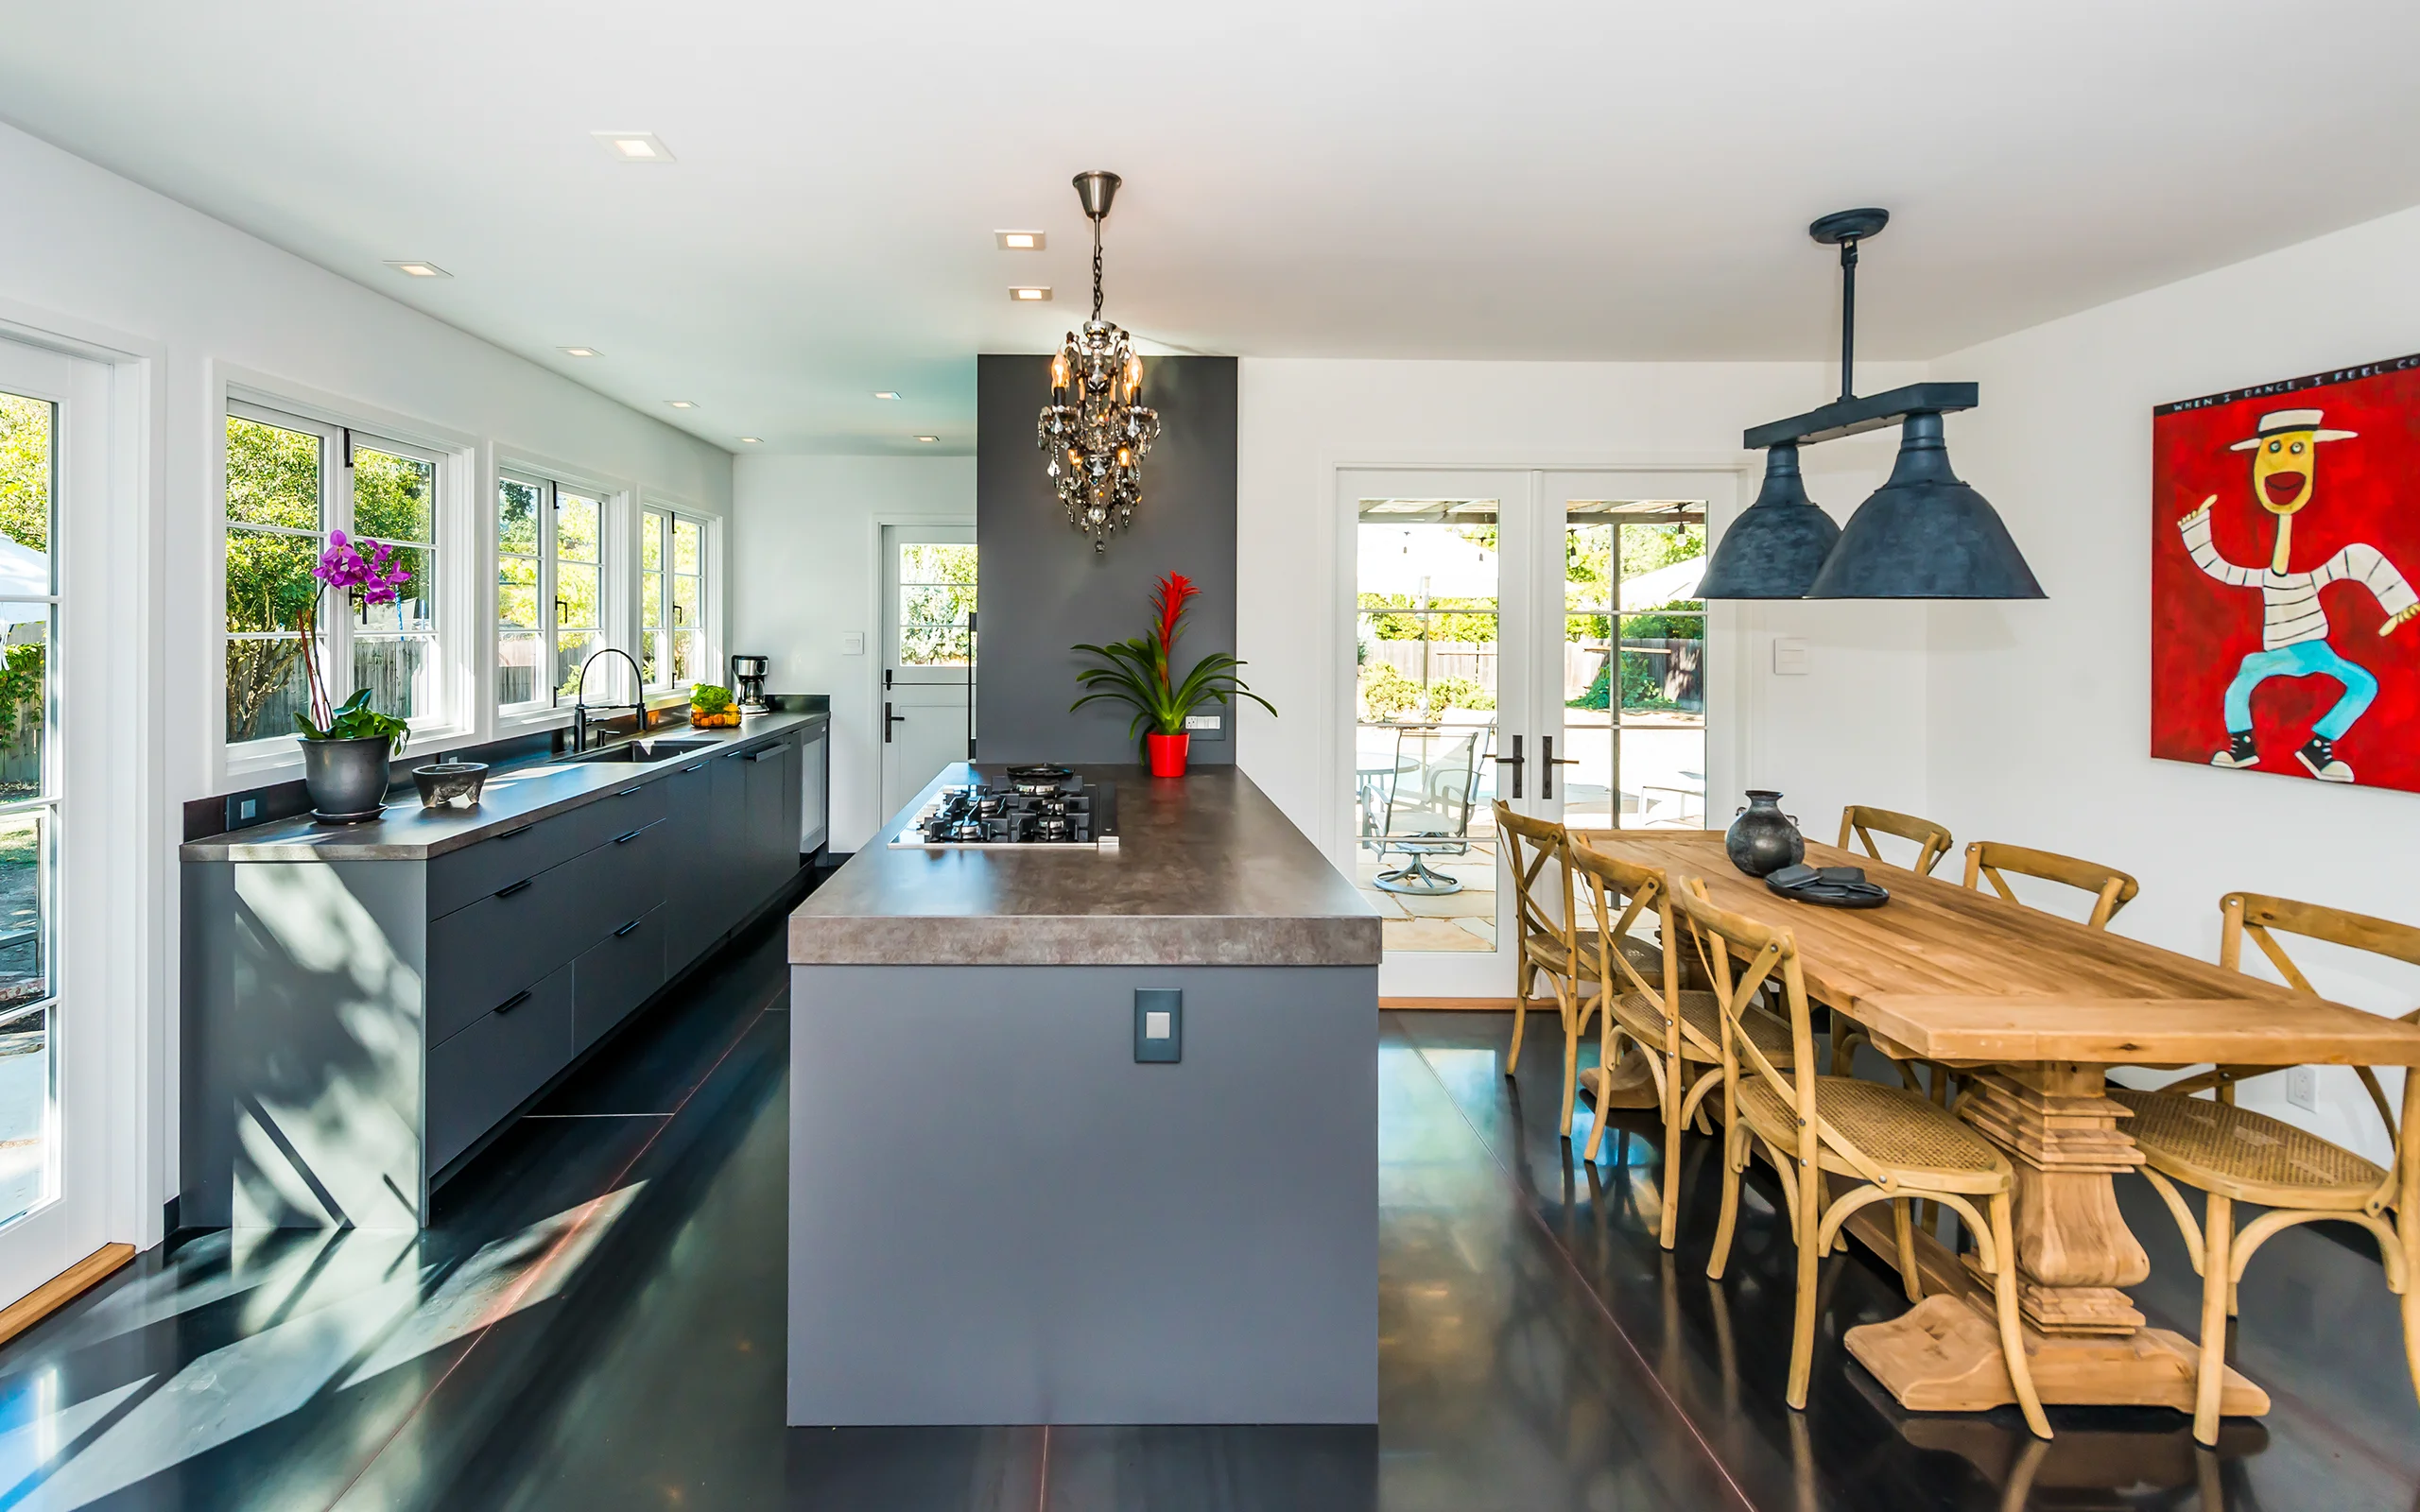
[[[2132,871],[2142,898],[2118,929],[2205,960],[2219,895],[2236,888],[2420,922],[2420,796],[2147,755],[2151,532],[2197,503],[2151,498],[2151,406],[2420,351],[2415,266],[2420,210],[2408,210],[1931,365],[1982,385],[1982,406],[1951,416],[1951,455],[2050,600],[1931,610],[1929,815],[1960,839]],[[2410,673],[2410,648],[2381,653]],[[2415,1002],[2410,973],[2301,956],[2330,997],[2393,1014]],[[2316,1118],[2284,1103],[2284,1077],[2243,1101],[2381,1154],[2355,1077],[2321,1077]]]

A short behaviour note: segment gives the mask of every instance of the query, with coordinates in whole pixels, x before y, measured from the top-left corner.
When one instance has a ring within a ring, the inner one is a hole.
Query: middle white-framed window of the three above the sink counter
[[[496,474],[496,711],[571,702],[605,646],[605,496],[532,472]]]

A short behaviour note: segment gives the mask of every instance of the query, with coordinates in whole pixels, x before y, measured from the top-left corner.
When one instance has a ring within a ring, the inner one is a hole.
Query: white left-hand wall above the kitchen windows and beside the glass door
[[[731,460],[714,445],[336,278],[160,194],[0,126],[0,184],[12,235],[0,237],[0,324],[56,334],[138,358],[148,377],[143,411],[148,489],[157,520],[160,571],[152,614],[150,685],[114,689],[155,699],[157,748],[140,798],[150,849],[131,859],[145,898],[126,900],[128,948],[150,958],[155,982],[143,1006],[157,1045],[140,1193],[114,1222],[114,1239],[157,1239],[160,1202],[174,1171],[174,844],[177,806],[211,791],[223,714],[213,629],[223,619],[213,564],[215,448],[227,373],[293,385],[368,411],[407,416],[477,438],[479,477],[491,489],[494,452],[506,448],[721,513]],[[416,254],[426,249],[397,249]],[[382,276],[370,269],[365,276]],[[578,339],[576,331],[566,339]],[[126,564],[128,593],[148,593]],[[128,605],[136,612],[136,605]],[[65,823],[77,823],[70,813]]]

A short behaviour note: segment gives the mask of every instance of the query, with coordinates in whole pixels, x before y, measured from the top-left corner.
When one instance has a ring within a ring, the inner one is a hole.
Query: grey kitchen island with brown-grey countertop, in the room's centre
[[[1074,774],[1113,847],[895,847],[956,764],[789,919],[789,1422],[1377,1422],[1379,919]]]

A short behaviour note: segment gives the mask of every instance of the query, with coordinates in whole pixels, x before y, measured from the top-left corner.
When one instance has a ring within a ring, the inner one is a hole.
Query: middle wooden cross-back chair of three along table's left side
[[[1665,1127],[1663,1219],[1658,1241],[1665,1248],[1672,1248],[1679,1231],[1679,1137],[1692,1123],[1696,1123],[1699,1132],[1711,1132],[1706,1130],[1706,1115],[1699,1103],[1704,1103],[1706,1093],[1723,1084],[1723,999],[1713,992],[1682,987],[1682,958],[1687,956],[1687,946],[1672,929],[1672,881],[1663,871],[1638,866],[1619,856],[1607,856],[1588,844],[1571,847],[1571,866],[1588,885],[1597,907],[1597,919],[1614,919],[1595,939],[1595,965],[1604,1002],[1597,1018],[1602,1031],[1597,1072],[1604,1077],[1600,1086],[1612,1081],[1612,1072],[1621,1064],[1626,1048],[1638,1045],[1638,1052],[1648,1064],[1648,1074],[1655,1081],[1655,1108],[1663,1113]],[[1621,905],[1621,914],[1617,919],[1614,907],[1621,900],[1629,902]],[[1631,939],[1631,929],[1641,917],[1653,917],[1658,924],[1658,939],[1665,941],[1660,973],[1653,968],[1641,970],[1629,953],[1607,948],[1607,941]],[[1699,965],[1711,973],[1711,965],[1704,960],[1706,943],[1696,939],[1694,946],[1699,951]],[[1711,980],[1711,975],[1706,980]],[[1672,1011],[1675,1006],[1679,1009],[1677,1014]],[[1776,1064],[1791,1064],[1788,1023],[1781,1023],[1764,1009],[1752,1009],[1745,1023],[1747,1033],[1769,1060]],[[1602,1144],[1604,1118],[1597,1118],[1597,1127],[1588,1135],[1583,1159],[1595,1164]]]

